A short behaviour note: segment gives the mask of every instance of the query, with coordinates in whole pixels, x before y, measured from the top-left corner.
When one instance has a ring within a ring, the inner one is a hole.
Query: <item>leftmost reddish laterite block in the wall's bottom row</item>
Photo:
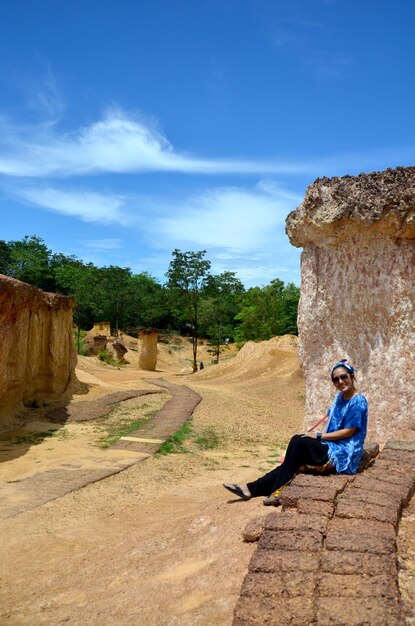
[[[311,598],[281,598],[260,596],[253,602],[241,596],[235,608],[233,626],[300,626],[314,621]]]

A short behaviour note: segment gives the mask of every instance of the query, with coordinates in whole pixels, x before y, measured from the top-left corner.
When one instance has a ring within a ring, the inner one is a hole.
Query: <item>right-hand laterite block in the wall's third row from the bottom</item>
[[[396,575],[396,558],[394,554],[325,550],[321,560],[321,571],[330,574],[365,574],[367,576],[389,572]]]

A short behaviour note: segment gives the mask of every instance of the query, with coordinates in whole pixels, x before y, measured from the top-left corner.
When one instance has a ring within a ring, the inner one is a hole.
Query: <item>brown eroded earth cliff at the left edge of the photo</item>
[[[78,386],[74,305],[0,275],[0,430],[23,406],[63,401]]]

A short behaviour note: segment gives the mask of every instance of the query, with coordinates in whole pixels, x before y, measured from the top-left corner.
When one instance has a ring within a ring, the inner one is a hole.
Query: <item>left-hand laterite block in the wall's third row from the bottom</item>
[[[319,552],[298,550],[262,550],[252,555],[249,569],[253,572],[315,572],[320,567]]]

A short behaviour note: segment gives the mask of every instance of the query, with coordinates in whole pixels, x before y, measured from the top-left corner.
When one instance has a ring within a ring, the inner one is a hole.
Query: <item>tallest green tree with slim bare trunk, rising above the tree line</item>
[[[197,338],[199,324],[199,305],[203,289],[206,286],[211,263],[204,258],[206,250],[199,252],[181,252],[173,250],[166,273],[167,286],[172,301],[183,310],[186,321],[190,324],[193,347],[193,372],[197,371]]]

